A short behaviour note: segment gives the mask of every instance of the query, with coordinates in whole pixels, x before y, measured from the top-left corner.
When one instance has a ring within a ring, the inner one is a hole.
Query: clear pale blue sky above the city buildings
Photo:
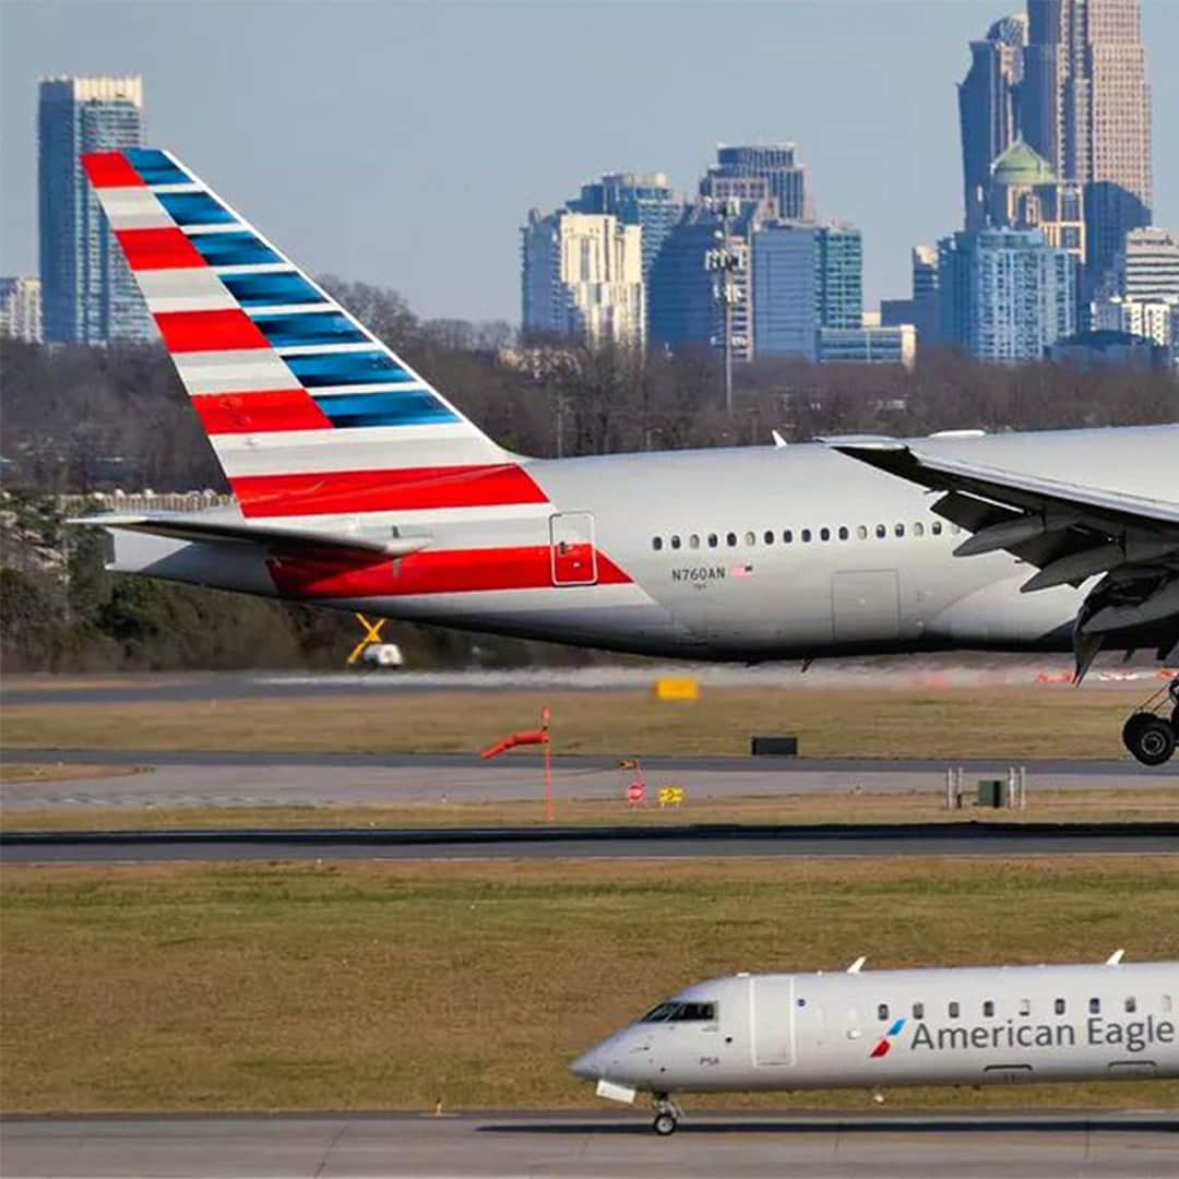
[[[519,226],[602,171],[680,191],[792,140],[865,302],[959,228],[955,83],[1019,0],[0,0],[0,274],[37,271],[37,80],[144,78],[167,147],[315,272],[519,320]],[[1179,228],[1179,0],[1142,0],[1154,219]]]

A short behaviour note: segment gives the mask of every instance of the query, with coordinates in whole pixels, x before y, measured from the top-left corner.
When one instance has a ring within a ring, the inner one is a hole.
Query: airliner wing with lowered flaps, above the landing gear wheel
[[[971,533],[956,556],[1007,551],[1039,572],[1025,593],[1101,581],[1078,614],[1084,676],[1104,639],[1141,631],[1160,656],[1179,645],[1179,503],[946,459],[894,439],[826,439],[828,446],[944,494],[937,515]]]

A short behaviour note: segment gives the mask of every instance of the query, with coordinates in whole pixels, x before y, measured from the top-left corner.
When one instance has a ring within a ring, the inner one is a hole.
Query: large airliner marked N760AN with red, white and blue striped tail
[[[1179,426],[526,459],[173,156],[84,164],[236,496],[91,518],[117,571],[689,659],[1179,646]]]

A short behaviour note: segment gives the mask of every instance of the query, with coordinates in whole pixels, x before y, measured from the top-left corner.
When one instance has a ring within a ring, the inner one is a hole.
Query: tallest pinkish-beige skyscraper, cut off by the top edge
[[[1151,101],[1140,0],[1028,0],[1020,124],[1062,179],[1086,185],[1086,286],[1151,222]]]

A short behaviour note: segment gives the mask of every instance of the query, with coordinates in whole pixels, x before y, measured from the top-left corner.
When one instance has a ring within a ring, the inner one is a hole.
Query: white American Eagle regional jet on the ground
[[[579,1056],[598,1095],[1179,1076],[1179,962],[738,974],[689,987]]]

